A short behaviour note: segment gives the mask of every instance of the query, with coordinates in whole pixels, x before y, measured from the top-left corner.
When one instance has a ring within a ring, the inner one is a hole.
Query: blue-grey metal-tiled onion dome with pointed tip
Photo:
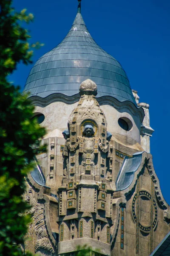
[[[79,93],[79,86],[86,79],[97,84],[97,97],[112,96],[136,105],[125,70],[91,37],[79,2],[70,31],[57,47],[35,63],[24,91],[42,98],[54,93],[73,96]]]

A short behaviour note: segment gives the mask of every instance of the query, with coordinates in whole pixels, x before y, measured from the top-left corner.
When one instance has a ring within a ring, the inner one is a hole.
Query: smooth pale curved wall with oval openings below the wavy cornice
[[[112,102],[112,105],[109,105],[100,100],[101,109],[105,113],[108,122],[108,131],[112,134],[128,137],[129,139],[134,140],[134,143],[140,143],[140,126],[143,115],[142,109],[136,108],[133,104],[131,104],[132,106],[130,108],[128,102],[127,104],[125,104],[125,102],[119,102],[119,105],[116,105],[116,103],[117,102]],[[57,132],[57,136],[62,137],[62,131],[67,128],[69,116],[77,106],[77,102],[67,104],[65,102],[56,101],[49,105],[45,105],[43,102],[41,104],[39,101],[39,103],[36,102],[36,104],[34,102],[34,105],[36,105],[35,112],[42,113],[45,116],[41,125],[45,126],[47,133],[51,133],[50,136],[55,137],[55,133]],[[126,117],[132,122],[130,131],[125,131],[119,126],[118,119],[120,117]]]

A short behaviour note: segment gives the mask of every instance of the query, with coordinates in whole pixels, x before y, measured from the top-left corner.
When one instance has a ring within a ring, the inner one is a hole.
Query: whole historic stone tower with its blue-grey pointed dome
[[[170,230],[150,154],[149,105],[91,37],[80,1],[70,31],[35,63],[24,88],[47,134],[27,179],[33,221],[23,249],[74,256],[88,244],[94,255],[149,256]]]

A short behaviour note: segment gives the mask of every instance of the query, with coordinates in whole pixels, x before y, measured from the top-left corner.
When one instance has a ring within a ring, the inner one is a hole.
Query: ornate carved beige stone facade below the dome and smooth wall
[[[48,137],[47,152],[37,151],[45,183],[28,175],[25,195],[33,218],[25,247],[33,253],[72,255],[88,244],[101,255],[149,256],[170,230],[152,156],[107,131],[96,94],[84,81],[63,138]]]

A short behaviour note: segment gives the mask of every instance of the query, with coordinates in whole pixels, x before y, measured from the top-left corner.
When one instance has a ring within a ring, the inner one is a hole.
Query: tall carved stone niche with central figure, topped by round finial
[[[81,95],[79,103],[68,120],[70,138],[65,144],[67,146],[65,155],[69,155],[69,173],[67,173],[71,177],[97,176],[97,180],[100,175],[101,177],[106,175],[106,158],[111,134],[107,140],[107,121],[95,98],[96,84],[89,79],[82,82],[79,93]],[[67,136],[67,134],[63,135]]]

